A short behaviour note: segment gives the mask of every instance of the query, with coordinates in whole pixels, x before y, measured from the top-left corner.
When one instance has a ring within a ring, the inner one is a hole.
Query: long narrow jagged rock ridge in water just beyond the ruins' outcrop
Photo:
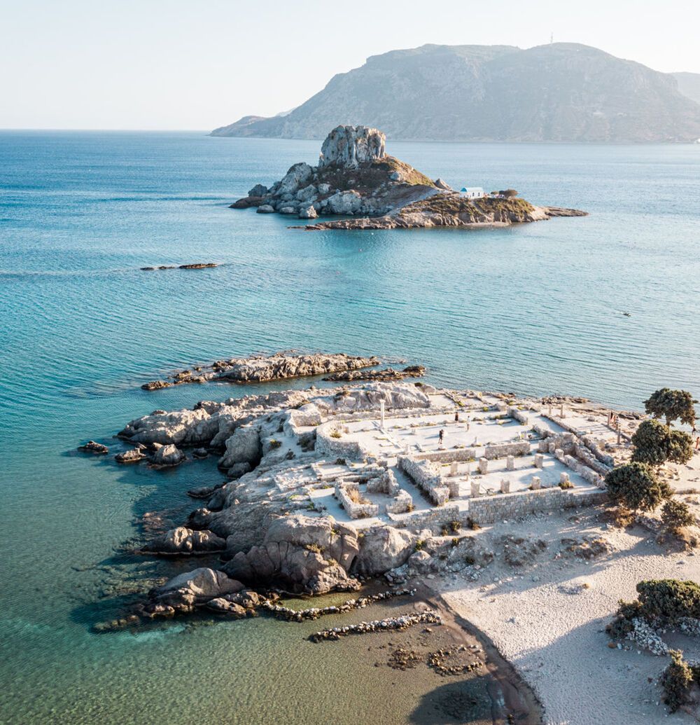
[[[301,378],[325,373],[347,372],[378,365],[378,357],[346,355],[343,352],[325,354],[300,353],[293,350],[272,355],[252,355],[217,360],[212,365],[196,365],[192,370],[179,370],[170,381],[154,380],[144,383],[143,390],[160,390],[172,385],[205,383],[209,380],[228,383],[264,383],[283,378]]]

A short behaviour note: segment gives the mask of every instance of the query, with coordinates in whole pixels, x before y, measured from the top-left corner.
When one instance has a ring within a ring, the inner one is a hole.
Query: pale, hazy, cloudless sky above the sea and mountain
[[[586,43],[700,73],[700,0],[0,0],[0,128],[207,130],[370,55]]]

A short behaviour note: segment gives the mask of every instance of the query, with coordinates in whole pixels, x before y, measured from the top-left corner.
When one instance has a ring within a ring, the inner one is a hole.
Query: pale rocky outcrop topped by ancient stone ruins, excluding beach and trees
[[[583,420],[604,420],[604,411],[578,405]],[[501,492],[513,493],[503,481],[516,476],[522,501],[546,502],[539,498],[546,489],[554,506],[564,505],[562,496],[572,497],[570,505],[599,501],[604,493],[597,486],[612,457],[583,433],[561,434],[559,423],[551,403],[376,381],[202,401],[191,410],[137,418],[120,433],[135,446],[133,460],[151,451],[151,465],[175,463],[183,447],[204,448],[220,455],[219,468],[228,473],[224,484],[191,491],[203,505],[141,549],[217,552],[222,565],[180,575],[153,592],[146,615],[221,599],[214,610],[245,616],[238,609],[243,603],[230,598],[243,587],[321,594],[357,589],[359,578],[380,574],[393,584],[465,567],[477,576],[499,547],[509,566],[522,566],[540,555],[538,540],[487,543],[465,531],[465,515],[490,521],[489,507],[499,505],[513,507],[500,518],[526,511],[517,497],[499,500],[491,489],[480,499],[479,479],[486,486],[489,465],[498,468],[491,485]],[[438,442],[438,428],[447,431],[449,447]],[[525,438],[523,430],[530,431]],[[475,436],[492,443],[478,444]],[[544,455],[551,475],[541,478]],[[475,458],[476,479],[468,463]],[[557,467],[564,465],[569,472],[560,476]]]

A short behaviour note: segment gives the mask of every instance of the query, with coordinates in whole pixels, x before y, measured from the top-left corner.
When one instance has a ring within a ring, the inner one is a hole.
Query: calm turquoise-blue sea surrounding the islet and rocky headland
[[[181,521],[193,508],[183,491],[220,474],[70,451],[109,444],[154,407],[253,389],[138,389],[159,373],[296,347],[407,357],[438,384],[625,407],[664,384],[700,392],[700,146],[389,144],[453,186],[512,186],[591,212],[514,228],[304,233],[228,209],[319,149],[0,133],[0,721],[322,722],[333,677],[362,667],[350,648],[320,654],[267,620],[91,634],[120,602],[112,587],[191,567],[115,551],[134,518],[167,509]],[[197,261],[220,267],[138,269]],[[358,687],[347,721],[381,707]],[[387,722],[411,712],[381,702]]]

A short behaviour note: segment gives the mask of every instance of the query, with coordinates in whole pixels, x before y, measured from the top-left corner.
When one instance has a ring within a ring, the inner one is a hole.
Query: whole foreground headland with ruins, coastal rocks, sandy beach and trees
[[[126,423],[116,455],[108,441],[81,447],[161,470],[216,456],[225,475],[188,491],[199,506],[175,526],[146,515],[132,552],[189,571],[135,592],[97,631],[196,614],[318,619],[306,636],[319,647],[350,637],[394,647],[399,669],[486,678],[494,723],[698,716],[691,394],[659,389],[625,412],[384,378],[378,357],[286,351],[215,367],[230,374],[207,386],[314,378],[154,410]]]

